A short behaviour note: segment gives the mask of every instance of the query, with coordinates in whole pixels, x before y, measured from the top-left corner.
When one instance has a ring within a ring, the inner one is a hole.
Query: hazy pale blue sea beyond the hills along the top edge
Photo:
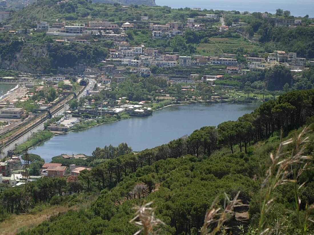
[[[314,17],[314,0],[155,0],[158,6],[276,13],[280,8],[298,17]]]

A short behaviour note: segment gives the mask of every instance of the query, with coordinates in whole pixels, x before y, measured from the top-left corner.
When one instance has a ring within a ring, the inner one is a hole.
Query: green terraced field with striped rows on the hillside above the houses
[[[207,56],[224,52],[230,53],[229,50],[238,48],[243,48],[249,52],[252,50],[263,50],[260,46],[257,46],[244,38],[209,38],[209,43],[200,43],[197,46],[198,53]]]

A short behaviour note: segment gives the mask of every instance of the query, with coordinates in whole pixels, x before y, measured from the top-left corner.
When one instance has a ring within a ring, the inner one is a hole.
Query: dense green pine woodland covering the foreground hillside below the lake
[[[217,128],[203,127],[190,136],[136,154],[127,144],[120,144],[95,149],[85,162],[56,157],[53,162],[94,167],[67,180],[44,178],[31,183],[32,206],[73,205],[88,194],[101,194],[91,208],[56,216],[51,222],[20,234],[133,234],[137,228],[127,222],[133,217],[132,205],[143,199],[154,201],[156,216],[166,224],[162,234],[197,234],[213,200],[218,196],[223,203],[224,192],[233,198],[237,191],[243,203],[250,205],[250,222],[255,227],[261,212],[260,183],[256,178],[265,174],[265,162],[269,163],[269,154],[280,142],[280,130],[290,138],[300,132],[298,128],[303,124],[312,124],[313,97],[314,90],[292,91],[276,101],[263,103],[238,121],[221,123]],[[294,129],[297,131],[290,132]],[[309,143],[303,154],[311,155],[314,136],[307,135]],[[282,151],[293,148],[290,145]],[[304,183],[304,190],[297,192],[301,198],[299,214],[286,214],[295,210],[295,183],[291,181],[276,189],[274,210],[265,217],[268,227],[275,226],[277,218],[283,218],[289,225],[284,234],[299,234],[300,226],[292,221],[302,217],[306,205],[314,203],[312,175],[312,170],[302,171],[296,181],[297,185]],[[20,211],[20,190],[5,188],[1,194],[4,217]],[[72,193],[75,196],[69,195]],[[312,226],[307,229],[311,231]]]

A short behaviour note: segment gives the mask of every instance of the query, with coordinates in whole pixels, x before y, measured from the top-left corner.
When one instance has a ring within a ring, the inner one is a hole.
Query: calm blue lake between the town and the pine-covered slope
[[[46,162],[60,154],[91,155],[96,147],[127,143],[139,151],[168,143],[203,126],[217,126],[237,120],[252,112],[257,105],[215,103],[170,106],[153,112],[149,117],[132,117],[97,127],[57,135],[29,153],[38,154]]]

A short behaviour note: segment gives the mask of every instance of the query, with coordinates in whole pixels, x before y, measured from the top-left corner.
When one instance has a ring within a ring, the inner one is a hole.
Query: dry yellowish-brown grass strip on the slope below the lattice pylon
[[[58,214],[59,212],[66,212],[68,210],[77,210],[75,206],[51,206],[45,210],[38,212],[35,215],[12,215],[11,218],[0,223],[1,235],[14,235],[22,230],[34,228],[41,222],[48,220],[51,215]]]

